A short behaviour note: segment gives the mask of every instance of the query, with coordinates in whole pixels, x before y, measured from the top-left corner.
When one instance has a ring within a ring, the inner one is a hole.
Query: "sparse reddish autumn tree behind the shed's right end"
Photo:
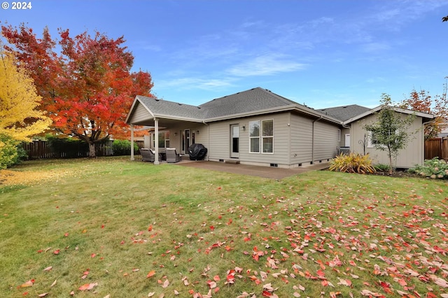
[[[409,97],[400,103],[400,107],[435,115],[435,120],[425,125],[425,139],[435,138],[448,121],[447,83],[443,85],[442,95],[431,97],[426,90],[412,90]]]

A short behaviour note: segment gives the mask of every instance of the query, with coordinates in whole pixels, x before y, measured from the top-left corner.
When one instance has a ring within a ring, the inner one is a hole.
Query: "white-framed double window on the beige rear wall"
[[[274,120],[257,120],[249,122],[249,152],[274,152]]]

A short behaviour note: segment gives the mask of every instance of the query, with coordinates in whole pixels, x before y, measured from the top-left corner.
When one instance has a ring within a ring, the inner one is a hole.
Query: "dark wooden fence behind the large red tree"
[[[106,143],[97,143],[97,156],[112,156],[113,140],[106,141]],[[136,141],[139,148],[144,147],[144,141]],[[73,143],[70,150],[52,150],[48,141],[33,141],[31,143],[24,143],[23,148],[28,153],[28,159],[43,159],[43,158],[76,158],[89,156],[89,148],[85,144]],[[131,154],[131,153],[130,153]]]

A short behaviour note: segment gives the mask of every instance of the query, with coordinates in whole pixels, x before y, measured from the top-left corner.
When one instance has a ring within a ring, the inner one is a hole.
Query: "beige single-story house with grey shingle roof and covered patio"
[[[328,162],[341,150],[363,153],[360,141],[368,132],[363,131],[362,122],[374,120],[380,108],[351,105],[315,110],[256,87],[200,106],[137,95],[126,123],[131,126],[131,139],[134,125],[153,127],[145,146],[156,150],[156,157],[163,148],[188,155],[190,145],[202,143],[209,161],[293,168]],[[432,118],[416,113],[411,129],[421,133],[400,153],[398,167],[423,163],[422,128]],[[378,163],[386,163],[384,152],[374,150],[366,138],[365,151]]]

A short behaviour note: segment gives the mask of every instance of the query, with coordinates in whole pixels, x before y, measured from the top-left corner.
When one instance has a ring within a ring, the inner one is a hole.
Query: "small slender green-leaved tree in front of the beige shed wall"
[[[377,113],[377,122],[364,125],[364,129],[372,133],[372,143],[375,149],[386,151],[389,159],[389,173],[393,173],[393,160],[398,157],[398,151],[406,148],[410,136],[414,132],[408,129],[414,122],[415,115],[403,118],[392,106],[388,94],[381,95],[381,110]]]

